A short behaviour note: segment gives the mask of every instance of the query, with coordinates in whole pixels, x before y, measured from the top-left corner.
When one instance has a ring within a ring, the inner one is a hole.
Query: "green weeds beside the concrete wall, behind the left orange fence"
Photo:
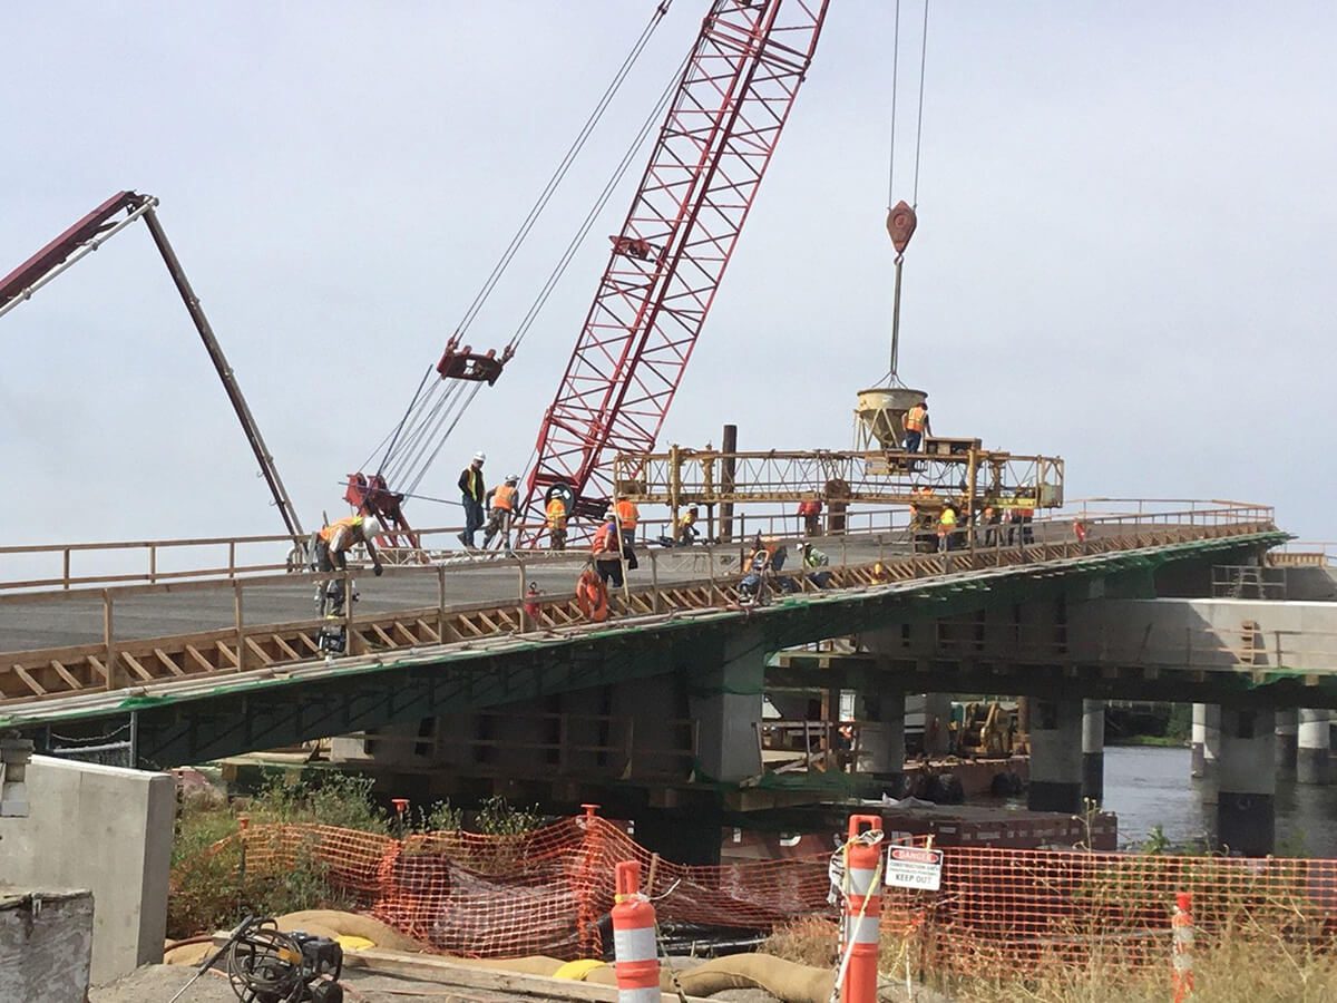
[[[293,863],[282,871],[257,867],[254,860],[247,867],[241,841],[225,843],[241,829],[243,817],[251,829],[312,824],[393,837],[459,833],[465,828],[464,810],[448,801],[412,809],[400,820],[372,797],[373,782],[344,773],[298,782],[274,777],[255,796],[231,804],[217,794],[183,798],[172,843],[167,936],[179,939],[229,928],[246,915],[278,916],[366,904],[330,880],[329,867],[318,852],[318,834],[303,837],[310,845],[289,853]],[[543,821],[535,810],[513,808],[505,798],[493,797],[480,806],[468,828],[488,836],[516,836]]]

